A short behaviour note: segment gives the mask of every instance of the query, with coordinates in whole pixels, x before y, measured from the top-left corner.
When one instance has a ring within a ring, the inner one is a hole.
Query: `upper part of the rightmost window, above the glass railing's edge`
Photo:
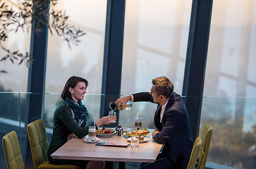
[[[204,96],[248,96],[256,87],[255,46],[256,1],[214,1]]]

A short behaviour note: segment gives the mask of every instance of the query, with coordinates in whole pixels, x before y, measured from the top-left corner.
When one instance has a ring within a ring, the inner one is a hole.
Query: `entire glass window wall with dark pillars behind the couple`
[[[1,0],[0,6],[4,2],[16,11],[21,4]],[[49,13],[68,15],[68,25],[85,35],[69,43],[45,25],[39,32],[6,28],[0,49],[0,136],[16,132],[25,168],[35,168],[27,125],[44,120],[51,142],[54,111],[72,75],[89,82],[83,100],[89,123],[108,115],[111,101],[150,92],[153,78],[168,77],[184,100],[193,141],[205,123],[213,127],[205,168],[256,168],[256,0],[61,0],[47,7]],[[30,51],[33,61],[26,66],[3,60],[4,49]],[[156,109],[134,102],[129,111],[116,110],[116,123],[101,127],[134,127],[142,111],[142,127],[154,129]],[[0,166],[7,168],[2,142]],[[140,163],[122,166],[140,168]]]

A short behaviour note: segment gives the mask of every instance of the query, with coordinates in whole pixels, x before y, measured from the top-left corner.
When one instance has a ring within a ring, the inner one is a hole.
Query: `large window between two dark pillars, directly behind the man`
[[[129,0],[123,42],[121,94],[150,92],[154,77],[166,76],[181,94],[192,0]],[[154,127],[156,104],[135,104],[120,113],[120,124],[142,111],[142,124]]]

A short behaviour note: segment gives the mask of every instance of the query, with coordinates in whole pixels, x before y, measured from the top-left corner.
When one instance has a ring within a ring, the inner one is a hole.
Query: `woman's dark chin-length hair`
[[[78,76],[71,76],[69,77],[68,81],[65,84],[65,87],[63,88],[63,91],[61,92],[61,98],[65,99],[68,97],[68,99],[72,99],[71,92],[69,92],[69,87],[74,88],[78,82],[85,82],[85,89],[88,87],[88,81],[85,80],[83,77]]]

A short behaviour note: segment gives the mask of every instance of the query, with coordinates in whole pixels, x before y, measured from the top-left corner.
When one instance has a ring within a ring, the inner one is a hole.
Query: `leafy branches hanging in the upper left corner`
[[[79,38],[85,35],[83,30],[80,30],[73,25],[68,25],[66,22],[68,20],[68,15],[62,11],[54,11],[51,9],[52,6],[56,6],[58,0],[28,0],[22,4],[15,4],[12,1],[1,1],[0,0],[0,47],[6,54],[1,58],[1,61],[9,60],[12,63],[14,61],[19,61],[25,63],[28,67],[32,61],[32,56],[30,51],[25,52],[25,54],[19,51],[11,51],[4,47],[4,42],[8,39],[9,32],[18,32],[19,29],[23,30],[26,28],[29,32],[31,30],[32,24],[35,25],[35,32],[41,31],[41,26],[45,25],[48,27],[49,32],[52,34],[52,30],[55,30],[58,36],[63,37],[63,40],[68,43],[71,49],[71,44],[76,46],[79,44]],[[18,8],[18,11],[14,11],[11,6]],[[50,4],[50,12],[48,13],[47,6]],[[43,17],[42,17],[43,16]],[[49,18],[51,18],[51,23],[49,23]],[[39,22],[35,23],[34,21]],[[15,27],[14,29],[8,30],[10,26]],[[6,73],[5,70],[0,70],[0,73]]]

